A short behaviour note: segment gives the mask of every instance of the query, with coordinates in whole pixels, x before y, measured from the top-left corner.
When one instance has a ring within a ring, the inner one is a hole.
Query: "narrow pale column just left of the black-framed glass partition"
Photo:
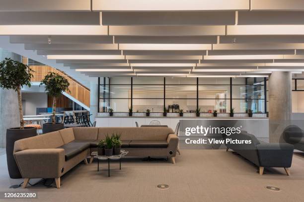
[[[90,113],[91,122],[95,121],[98,113],[98,78],[92,78],[90,85]]]

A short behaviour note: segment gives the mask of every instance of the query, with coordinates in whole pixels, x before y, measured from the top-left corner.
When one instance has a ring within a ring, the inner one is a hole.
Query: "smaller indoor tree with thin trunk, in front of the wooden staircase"
[[[40,86],[44,85],[45,91],[48,95],[53,97],[53,114],[52,124],[56,124],[56,99],[61,96],[63,92],[70,92],[70,83],[68,79],[55,72],[49,72],[41,81]]]

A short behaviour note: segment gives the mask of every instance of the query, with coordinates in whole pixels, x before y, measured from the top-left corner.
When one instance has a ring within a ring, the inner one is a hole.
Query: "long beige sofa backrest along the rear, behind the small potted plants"
[[[156,127],[102,127],[98,128],[98,140],[108,134],[121,134],[121,140],[167,140],[174,131],[171,128]]]

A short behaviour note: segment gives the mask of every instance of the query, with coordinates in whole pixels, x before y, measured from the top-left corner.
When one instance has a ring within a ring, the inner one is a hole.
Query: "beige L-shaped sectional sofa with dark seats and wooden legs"
[[[171,128],[67,128],[31,138],[18,140],[14,157],[24,178],[23,188],[30,178],[55,178],[60,188],[60,177],[97,150],[97,143],[105,136],[120,133],[122,148],[128,156],[170,157],[175,163],[178,138]]]

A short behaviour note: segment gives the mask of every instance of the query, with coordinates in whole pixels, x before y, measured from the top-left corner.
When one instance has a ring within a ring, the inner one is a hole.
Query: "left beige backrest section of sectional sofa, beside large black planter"
[[[14,145],[14,152],[28,149],[52,149],[63,145],[64,141],[60,132],[55,131],[16,141]]]

